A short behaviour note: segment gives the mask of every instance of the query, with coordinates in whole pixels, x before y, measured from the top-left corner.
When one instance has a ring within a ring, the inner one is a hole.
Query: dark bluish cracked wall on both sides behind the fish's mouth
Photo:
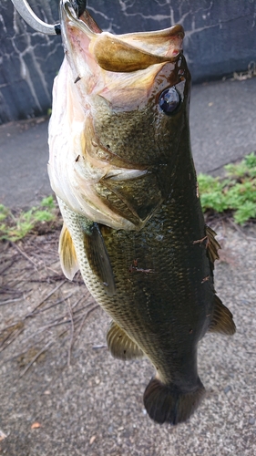
[[[58,0],[28,0],[46,22],[58,19]],[[104,30],[126,33],[184,26],[193,82],[246,70],[256,61],[256,0],[88,0]],[[0,5],[0,123],[46,113],[63,50],[59,36],[27,26],[11,0]]]

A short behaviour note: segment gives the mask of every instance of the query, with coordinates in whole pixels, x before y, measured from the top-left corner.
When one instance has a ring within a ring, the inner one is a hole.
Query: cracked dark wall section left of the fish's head
[[[58,18],[57,0],[29,0],[29,4],[48,22]],[[11,0],[1,0],[0,43],[0,123],[46,113],[63,58],[60,37],[36,33]]]

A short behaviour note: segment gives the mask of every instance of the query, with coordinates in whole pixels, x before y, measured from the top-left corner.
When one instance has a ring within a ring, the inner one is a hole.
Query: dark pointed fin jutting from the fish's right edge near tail
[[[220,297],[217,295],[214,297],[213,314],[208,330],[213,333],[227,334],[229,336],[232,336],[236,332],[236,326],[230,310],[221,303]]]

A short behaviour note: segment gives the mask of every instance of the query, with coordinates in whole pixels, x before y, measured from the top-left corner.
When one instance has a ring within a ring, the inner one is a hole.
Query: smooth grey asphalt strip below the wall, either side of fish
[[[190,130],[198,172],[218,174],[223,165],[256,150],[256,78],[195,85]],[[0,126],[0,202],[29,207],[49,195],[46,164],[48,119]]]

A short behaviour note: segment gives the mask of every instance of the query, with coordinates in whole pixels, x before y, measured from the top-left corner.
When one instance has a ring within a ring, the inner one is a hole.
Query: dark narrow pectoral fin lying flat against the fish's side
[[[115,278],[108,257],[108,250],[97,223],[93,223],[90,233],[84,231],[84,246],[91,269],[100,282],[105,285],[107,294],[114,295],[116,291]]]

